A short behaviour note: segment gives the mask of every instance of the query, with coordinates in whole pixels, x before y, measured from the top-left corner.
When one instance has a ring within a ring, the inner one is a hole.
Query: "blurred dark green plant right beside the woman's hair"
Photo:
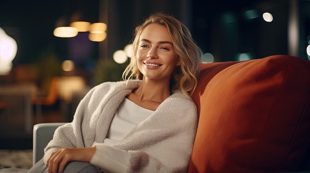
[[[94,83],[98,85],[107,81],[120,81],[126,67],[114,60],[98,60],[94,72]]]

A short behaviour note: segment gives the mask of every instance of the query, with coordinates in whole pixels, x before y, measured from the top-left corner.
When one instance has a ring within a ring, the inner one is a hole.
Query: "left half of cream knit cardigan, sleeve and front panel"
[[[140,83],[104,82],[92,88],[78,104],[73,121],[55,130],[45,153],[54,147],[90,147],[94,141],[103,142],[117,106]]]

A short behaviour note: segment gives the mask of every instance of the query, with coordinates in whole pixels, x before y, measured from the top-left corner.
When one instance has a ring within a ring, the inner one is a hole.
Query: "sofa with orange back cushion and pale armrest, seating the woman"
[[[310,173],[310,62],[273,55],[201,64],[188,173]],[[33,129],[34,163],[63,123]]]

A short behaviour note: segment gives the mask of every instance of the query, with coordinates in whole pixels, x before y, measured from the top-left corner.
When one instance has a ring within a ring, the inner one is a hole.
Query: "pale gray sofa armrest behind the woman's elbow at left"
[[[44,156],[44,148],[52,140],[57,127],[65,123],[39,123],[33,126],[33,165]]]

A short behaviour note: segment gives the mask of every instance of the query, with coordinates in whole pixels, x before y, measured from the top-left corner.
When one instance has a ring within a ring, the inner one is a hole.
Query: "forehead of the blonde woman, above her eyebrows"
[[[154,41],[172,41],[168,29],[164,25],[150,24],[141,33],[141,39]]]

